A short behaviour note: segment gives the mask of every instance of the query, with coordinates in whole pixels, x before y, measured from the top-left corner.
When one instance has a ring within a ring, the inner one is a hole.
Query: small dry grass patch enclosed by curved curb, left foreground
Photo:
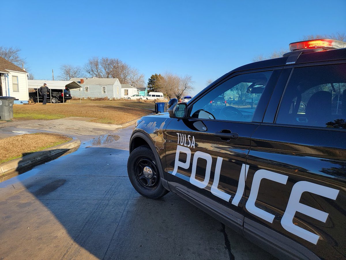
[[[51,133],[30,133],[0,139],[0,163],[71,141],[72,138]]]

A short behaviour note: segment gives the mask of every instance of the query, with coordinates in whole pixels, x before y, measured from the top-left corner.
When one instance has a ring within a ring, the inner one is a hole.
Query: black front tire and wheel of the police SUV
[[[127,173],[132,186],[144,197],[158,199],[168,193],[161,183],[154,153],[148,147],[140,146],[131,152]]]

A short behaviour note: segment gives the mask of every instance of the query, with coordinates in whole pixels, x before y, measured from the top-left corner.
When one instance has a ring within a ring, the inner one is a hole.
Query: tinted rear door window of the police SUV
[[[346,64],[294,68],[276,123],[346,129]]]

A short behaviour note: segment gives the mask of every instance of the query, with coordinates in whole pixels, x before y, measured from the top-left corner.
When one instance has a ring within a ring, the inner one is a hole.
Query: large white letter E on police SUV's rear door
[[[323,196],[333,200],[336,199],[339,191],[308,181],[299,181],[293,185],[285,213],[283,214],[281,219],[281,225],[288,232],[291,232],[292,234],[297,235],[302,239],[305,239],[316,245],[320,237],[319,235],[316,235],[304,228],[293,224],[293,218],[297,211],[324,223],[327,220],[328,213],[299,202],[302,193],[305,191],[315,193],[319,196]]]

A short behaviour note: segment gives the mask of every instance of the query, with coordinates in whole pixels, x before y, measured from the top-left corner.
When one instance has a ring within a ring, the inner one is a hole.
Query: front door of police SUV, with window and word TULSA
[[[166,129],[170,187],[239,230],[250,137],[262,121],[280,71],[220,80],[189,103],[189,118],[173,119]]]

